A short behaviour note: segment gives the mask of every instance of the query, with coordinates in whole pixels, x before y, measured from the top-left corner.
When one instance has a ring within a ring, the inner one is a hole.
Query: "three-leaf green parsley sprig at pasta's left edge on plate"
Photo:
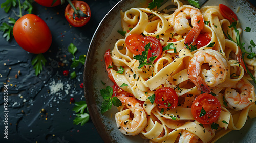
[[[106,89],[101,89],[100,94],[104,99],[101,105],[101,113],[108,111],[112,104],[116,107],[122,105],[122,102],[117,97],[112,97],[113,89],[110,86],[107,86]]]

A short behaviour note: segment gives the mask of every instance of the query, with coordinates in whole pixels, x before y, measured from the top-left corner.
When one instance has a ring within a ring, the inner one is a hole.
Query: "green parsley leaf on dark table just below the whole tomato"
[[[46,65],[46,59],[44,55],[38,54],[32,61],[31,64],[34,66],[33,69],[35,69],[35,75],[37,76],[38,74],[41,73],[42,71],[42,66]]]

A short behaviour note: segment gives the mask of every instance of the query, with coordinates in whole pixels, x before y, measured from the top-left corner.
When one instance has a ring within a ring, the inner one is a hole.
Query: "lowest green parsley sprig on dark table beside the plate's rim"
[[[81,124],[83,126],[85,123],[89,121],[90,115],[84,112],[87,109],[86,101],[75,102],[75,107],[73,111],[75,111],[76,118],[73,120],[73,124],[78,125]],[[87,109],[88,112],[88,109]]]

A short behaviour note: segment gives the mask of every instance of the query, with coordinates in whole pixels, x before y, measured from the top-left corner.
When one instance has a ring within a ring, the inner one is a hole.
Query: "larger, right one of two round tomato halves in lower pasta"
[[[202,108],[206,113],[200,117]],[[220,116],[221,104],[216,97],[208,93],[203,93],[193,101],[191,110],[196,121],[202,124],[210,124],[215,122]]]

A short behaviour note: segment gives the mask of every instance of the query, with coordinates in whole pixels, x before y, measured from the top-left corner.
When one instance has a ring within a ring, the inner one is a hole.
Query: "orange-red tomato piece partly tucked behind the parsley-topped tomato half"
[[[141,35],[129,35],[125,39],[126,47],[135,55],[139,55],[138,45],[142,41],[143,36]]]

